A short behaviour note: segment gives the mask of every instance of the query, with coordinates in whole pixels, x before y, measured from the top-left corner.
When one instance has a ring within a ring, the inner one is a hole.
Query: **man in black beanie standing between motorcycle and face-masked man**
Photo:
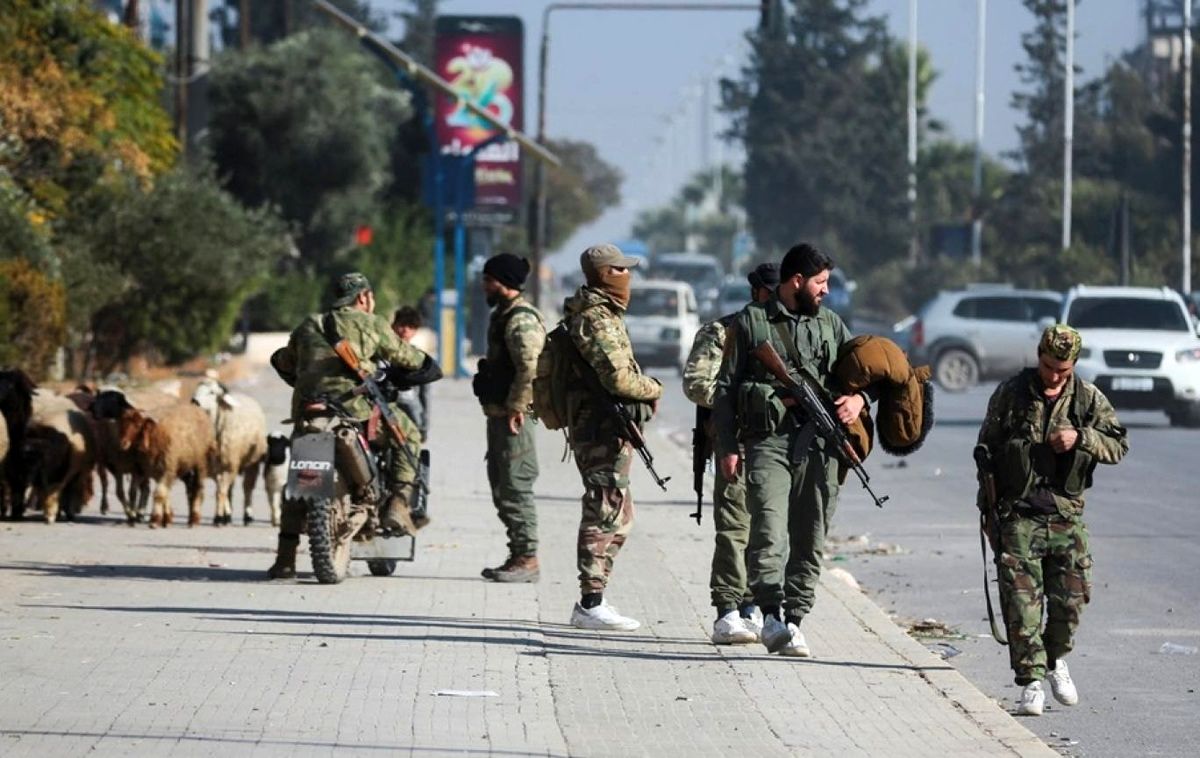
[[[494,582],[536,582],[538,509],[533,485],[538,479],[538,446],[526,411],[533,398],[538,355],[546,343],[541,313],[522,295],[529,261],[500,253],[484,264],[484,294],[492,307],[487,325],[487,356],[479,362],[475,395],[487,416],[487,481],[496,513],[509,536],[509,557],[484,568]]]

